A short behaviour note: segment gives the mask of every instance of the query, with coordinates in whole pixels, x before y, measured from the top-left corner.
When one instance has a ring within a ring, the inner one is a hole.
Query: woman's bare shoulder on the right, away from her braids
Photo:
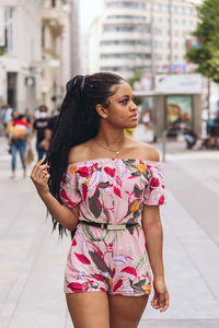
[[[136,150],[139,159],[152,162],[160,162],[159,152],[154,147],[137,140],[134,140],[134,142],[136,144]]]

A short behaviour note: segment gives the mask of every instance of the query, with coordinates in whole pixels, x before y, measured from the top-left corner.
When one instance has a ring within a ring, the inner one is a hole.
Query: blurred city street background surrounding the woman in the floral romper
[[[126,133],[153,144],[165,173],[172,306],[148,306],[139,327],[219,327],[218,16],[219,0],[0,0],[0,327],[72,327],[70,237],[51,234],[25,177],[49,147],[67,81],[97,71],[130,83],[139,125]]]

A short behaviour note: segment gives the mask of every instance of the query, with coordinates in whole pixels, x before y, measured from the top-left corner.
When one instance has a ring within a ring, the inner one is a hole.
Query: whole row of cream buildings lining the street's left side
[[[77,17],[78,0],[0,1],[0,106],[57,108],[79,68]]]

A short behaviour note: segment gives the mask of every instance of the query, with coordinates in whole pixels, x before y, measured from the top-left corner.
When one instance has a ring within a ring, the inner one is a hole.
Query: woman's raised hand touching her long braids
[[[50,175],[47,171],[49,166],[47,164],[43,164],[43,162],[44,159],[38,161],[31,173],[31,179],[39,196],[44,196],[49,192],[48,179]]]

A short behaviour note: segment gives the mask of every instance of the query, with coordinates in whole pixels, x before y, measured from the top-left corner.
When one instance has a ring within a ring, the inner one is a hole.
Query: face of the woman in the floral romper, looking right
[[[125,81],[113,87],[116,92],[107,98],[110,106],[104,108],[107,121],[123,129],[135,128],[138,125],[138,106],[134,102],[132,89]]]

